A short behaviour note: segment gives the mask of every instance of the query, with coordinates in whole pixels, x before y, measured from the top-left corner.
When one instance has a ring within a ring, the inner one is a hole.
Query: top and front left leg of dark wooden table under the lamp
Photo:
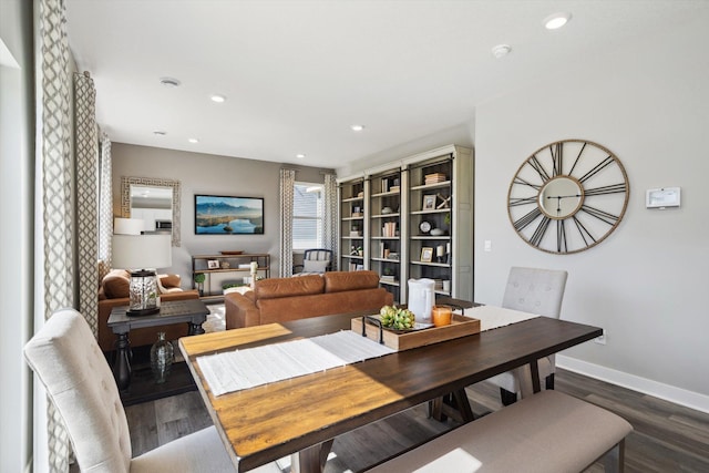
[[[202,323],[207,320],[209,313],[207,306],[199,299],[163,302],[160,312],[152,316],[129,317],[125,315],[126,310],[127,307],[113,308],[107,322],[109,328],[117,337],[113,376],[120,391],[125,391],[131,385],[131,342],[129,340],[131,329],[186,322],[189,326],[188,335],[198,335],[204,333]]]

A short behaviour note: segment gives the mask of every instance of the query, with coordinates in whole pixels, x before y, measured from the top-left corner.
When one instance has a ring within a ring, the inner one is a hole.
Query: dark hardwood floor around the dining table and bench
[[[565,370],[557,370],[556,389],[633,424],[626,472],[709,472],[709,414]],[[497,389],[489,383],[469,388],[467,395],[476,415],[502,408]],[[126,414],[133,455],[212,424],[196,391],[131,405]],[[454,426],[428,419],[427,407],[418,405],[336,439],[326,472],[360,471]],[[604,470],[595,464],[587,471]]]

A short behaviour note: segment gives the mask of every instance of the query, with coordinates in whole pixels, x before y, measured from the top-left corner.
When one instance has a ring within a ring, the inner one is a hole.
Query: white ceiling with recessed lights
[[[79,70],[95,80],[97,120],[112,141],[335,168],[472,126],[482,102],[681,28],[708,7],[707,0],[66,0],[66,16],[70,47]],[[558,11],[572,21],[545,30],[543,19]],[[512,53],[496,60],[491,49],[500,43]],[[164,76],[182,85],[165,88]],[[213,103],[213,93],[227,101]],[[366,128],[354,133],[351,124]]]

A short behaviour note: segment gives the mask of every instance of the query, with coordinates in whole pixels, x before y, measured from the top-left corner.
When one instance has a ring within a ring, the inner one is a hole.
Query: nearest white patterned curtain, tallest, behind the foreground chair
[[[74,307],[72,223],[72,150],[69,43],[62,0],[41,0],[38,16],[38,172],[43,228],[44,318],[61,307]],[[38,229],[39,230],[39,229]],[[68,472],[70,444],[61,417],[48,405],[49,469]]]

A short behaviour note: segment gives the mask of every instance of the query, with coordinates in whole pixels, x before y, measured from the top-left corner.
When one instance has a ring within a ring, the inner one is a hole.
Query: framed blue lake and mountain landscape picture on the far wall
[[[195,195],[196,235],[264,235],[264,198]]]

